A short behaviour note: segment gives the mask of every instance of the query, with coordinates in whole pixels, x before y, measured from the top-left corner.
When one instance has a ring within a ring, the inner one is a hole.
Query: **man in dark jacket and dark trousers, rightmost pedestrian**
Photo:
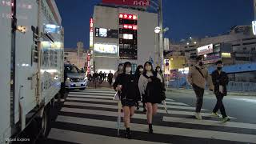
[[[222,114],[222,122],[230,121],[230,118],[226,115],[226,110],[223,105],[222,99],[227,94],[226,85],[229,82],[227,74],[222,71],[222,61],[216,62],[217,70],[212,73],[212,81],[214,84],[214,94],[217,98],[217,103],[213,110],[213,115],[218,116],[217,111],[220,110]]]

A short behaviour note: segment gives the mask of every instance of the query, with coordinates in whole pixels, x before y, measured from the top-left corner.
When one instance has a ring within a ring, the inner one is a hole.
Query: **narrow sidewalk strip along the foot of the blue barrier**
[[[192,89],[170,89],[167,88],[168,92],[174,92],[174,93],[185,93],[185,94],[194,94],[194,90]],[[210,90],[206,90],[206,95],[213,95],[213,92]],[[255,96],[256,92],[228,92],[229,96]]]

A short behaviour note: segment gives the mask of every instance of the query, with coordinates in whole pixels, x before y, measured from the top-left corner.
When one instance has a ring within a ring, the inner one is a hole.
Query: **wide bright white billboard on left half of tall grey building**
[[[94,51],[95,53],[97,52],[101,54],[118,54],[118,46],[111,44],[95,43]]]

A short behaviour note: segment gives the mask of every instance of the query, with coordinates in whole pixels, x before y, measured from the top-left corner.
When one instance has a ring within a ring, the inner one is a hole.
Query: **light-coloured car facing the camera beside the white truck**
[[[71,64],[64,65],[64,79],[66,89],[85,90],[88,84],[86,74],[79,70],[77,66]]]

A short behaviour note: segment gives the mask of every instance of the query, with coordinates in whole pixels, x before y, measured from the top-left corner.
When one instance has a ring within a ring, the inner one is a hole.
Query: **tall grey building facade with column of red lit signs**
[[[146,61],[158,63],[158,14],[114,6],[94,6],[91,70],[113,72],[131,62],[133,71]]]

